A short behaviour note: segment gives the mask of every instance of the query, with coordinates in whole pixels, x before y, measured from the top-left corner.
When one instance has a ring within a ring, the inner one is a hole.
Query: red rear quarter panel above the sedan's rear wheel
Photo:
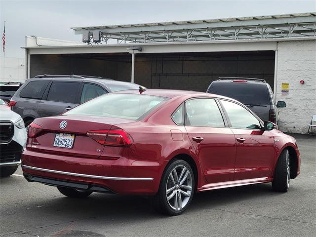
[[[192,143],[189,140],[184,126],[178,125],[156,125],[144,124],[143,122],[122,124],[118,127],[128,132],[134,144],[127,153],[120,153],[129,160],[133,160],[133,166],[159,166],[159,169],[153,167],[152,172],[157,172],[154,176],[158,177],[155,186],[158,190],[163,171],[172,158],[178,155],[187,155],[194,159],[197,164],[198,176],[202,173],[199,161],[195,154]],[[176,132],[176,136],[171,135],[171,130]],[[103,156],[111,156],[112,149],[104,149]],[[202,180],[203,184],[206,182]]]

